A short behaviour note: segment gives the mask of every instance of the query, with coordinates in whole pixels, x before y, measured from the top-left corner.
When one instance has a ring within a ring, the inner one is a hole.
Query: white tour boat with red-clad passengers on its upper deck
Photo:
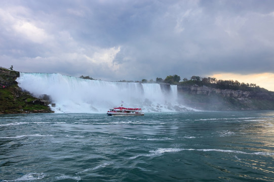
[[[144,113],[141,108],[124,108],[123,101],[121,107],[109,109],[106,113],[109,116],[143,116]]]

